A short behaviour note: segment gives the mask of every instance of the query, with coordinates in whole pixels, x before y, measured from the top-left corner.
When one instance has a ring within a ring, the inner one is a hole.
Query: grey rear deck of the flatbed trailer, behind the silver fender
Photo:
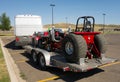
[[[80,59],[80,64],[69,63],[62,55],[51,56],[51,65],[62,68],[64,71],[85,72],[101,65],[115,62],[116,59],[106,58],[102,59]]]

